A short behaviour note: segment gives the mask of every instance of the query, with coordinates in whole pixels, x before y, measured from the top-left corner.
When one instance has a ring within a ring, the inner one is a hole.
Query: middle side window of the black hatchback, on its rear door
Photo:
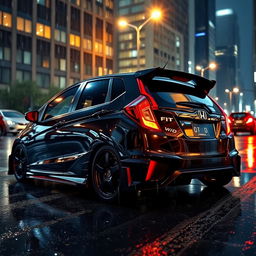
[[[109,79],[87,83],[76,109],[88,108],[104,103],[108,93],[108,84]]]

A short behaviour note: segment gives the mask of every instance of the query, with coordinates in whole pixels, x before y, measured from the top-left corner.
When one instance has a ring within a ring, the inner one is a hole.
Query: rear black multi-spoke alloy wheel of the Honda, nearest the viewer
[[[118,154],[110,146],[101,147],[93,157],[91,182],[95,194],[103,201],[118,198],[121,163]]]

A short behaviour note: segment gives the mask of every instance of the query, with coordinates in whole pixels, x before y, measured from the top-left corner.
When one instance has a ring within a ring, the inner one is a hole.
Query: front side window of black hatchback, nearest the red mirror
[[[76,86],[64,92],[53,101],[51,101],[46,107],[42,120],[46,120],[67,113],[70,109],[71,104],[73,103],[78,87],[79,86]]]

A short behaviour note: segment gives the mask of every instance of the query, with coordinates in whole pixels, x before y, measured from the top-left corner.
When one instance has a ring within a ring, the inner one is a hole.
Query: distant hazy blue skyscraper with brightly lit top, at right
[[[219,103],[227,106],[229,112],[238,111],[240,92],[233,93],[239,84],[239,28],[233,9],[221,9],[216,12],[216,61],[217,95]],[[226,92],[225,92],[226,90]],[[228,92],[229,91],[229,92]],[[240,109],[241,111],[241,109]]]

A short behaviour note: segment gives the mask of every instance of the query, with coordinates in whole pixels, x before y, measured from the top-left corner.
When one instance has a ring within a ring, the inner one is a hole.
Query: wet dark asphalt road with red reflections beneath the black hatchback
[[[96,201],[82,188],[7,175],[0,138],[0,255],[256,255],[256,136],[237,136],[242,175],[159,195]]]

